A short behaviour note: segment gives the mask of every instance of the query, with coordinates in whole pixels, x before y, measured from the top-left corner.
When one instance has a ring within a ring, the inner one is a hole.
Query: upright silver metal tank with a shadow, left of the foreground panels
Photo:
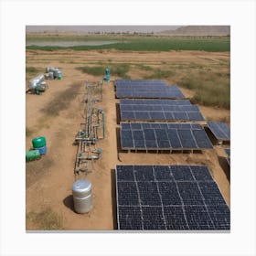
[[[79,179],[72,187],[74,208],[77,213],[87,213],[92,208],[91,182]]]

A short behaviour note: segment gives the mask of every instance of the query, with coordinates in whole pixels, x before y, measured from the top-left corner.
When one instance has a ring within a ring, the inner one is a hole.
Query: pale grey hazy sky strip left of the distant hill
[[[27,32],[160,32],[181,26],[27,26]]]

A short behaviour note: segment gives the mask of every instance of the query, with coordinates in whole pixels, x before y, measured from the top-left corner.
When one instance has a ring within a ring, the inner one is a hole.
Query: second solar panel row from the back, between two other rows
[[[197,105],[187,100],[121,100],[121,120],[203,121]]]

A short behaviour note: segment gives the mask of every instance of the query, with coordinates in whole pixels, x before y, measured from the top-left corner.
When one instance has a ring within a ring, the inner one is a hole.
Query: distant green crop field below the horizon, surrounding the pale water
[[[51,37],[51,40],[63,41],[65,37]],[[115,40],[116,43],[100,46],[75,46],[68,47],[74,50],[90,49],[118,49],[133,51],[169,51],[169,50],[204,50],[204,51],[229,51],[229,37],[73,37],[74,41],[106,41]],[[67,38],[66,38],[67,39]],[[70,39],[70,38],[69,38]],[[27,41],[32,41],[30,37]],[[46,37],[45,41],[49,41]],[[43,37],[40,37],[43,41]],[[38,47],[27,46],[27,49],[58,50],[65,47]]]

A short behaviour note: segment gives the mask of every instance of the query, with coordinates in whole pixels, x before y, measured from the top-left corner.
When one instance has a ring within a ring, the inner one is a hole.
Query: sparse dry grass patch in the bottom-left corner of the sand
[[[51,208],[46,208],[40,212],[30,211],[26,215],[27,222],[32,222],[37,229],[60,230],[63,229],[63,217]]]

